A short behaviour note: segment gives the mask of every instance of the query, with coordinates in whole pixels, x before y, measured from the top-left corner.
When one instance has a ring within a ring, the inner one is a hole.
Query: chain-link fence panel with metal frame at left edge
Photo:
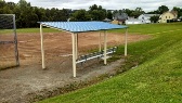
[[[15,15],[0,14],[0,69],[18,65]]]

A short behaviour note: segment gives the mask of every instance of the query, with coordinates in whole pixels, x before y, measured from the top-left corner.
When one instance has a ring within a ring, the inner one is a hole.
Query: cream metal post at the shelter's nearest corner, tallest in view
[[[73,74],[76,77],[76,46],[75,46],[75,34],[72,34],[72,41],[73,41]]]

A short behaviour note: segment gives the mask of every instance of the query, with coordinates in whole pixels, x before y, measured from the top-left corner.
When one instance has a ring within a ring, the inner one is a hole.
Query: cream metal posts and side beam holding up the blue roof
[[[47,25],[42,25],[40,24],[40,37],[41,37],[41,55],[42,55],[42,68],[46,68],[46,63],[44,63],[44,49],[43,49],[43,34],[42,34],[42,26],[47,26]],[[50,27],[50,26],[47,26]],[[53,27],[51,27],[53,28]],[[58,29],[58,28],[55,28]],[[58,29],[62,30],[62,29]],[[64,30],[65,31],[65,30]],[[69,31],[66,31],[69,33]],[[78,59],[78,34],[77,33],[69,33],[72,34],[72,42],[73,42],[73,76],[76,77],[76,65],[77,63],[77,59]],[[128,28],[126,29],[126,41],[125,41],[125,56],[127,56],[127,35],[128,35]],[[99,50],[101,51],[101,33],[100,33],[100,41],[99,41]],[[104,64],[107,64],[107,31],[104,30]]]

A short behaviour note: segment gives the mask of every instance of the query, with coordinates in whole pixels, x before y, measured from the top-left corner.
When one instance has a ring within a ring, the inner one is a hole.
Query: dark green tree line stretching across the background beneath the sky
[[[182,16],[182,9],[174,7],[174,11],[178,12],[178,16]],[[168,7],[161,5],[156,11],[147,12],[148,14],[161,14],[169,11]],[[38,7],[31,7],[30,2],[26,0],[20,0],[17,3],[5,2],[0,0],[0,14],[15,14],[16,25],[18,28],[37,27],[37,22],[66,22],[66,21],[103,21],[104,18],[113,20],[116,13],[127,13],[128,16],[138,17],[145,13],[142,8],[134,10],[106,10],[102,5],[93,4],[89,10],[69,10],[69,9],[43,9]],[[154,17],[156,18],[156,17]]]

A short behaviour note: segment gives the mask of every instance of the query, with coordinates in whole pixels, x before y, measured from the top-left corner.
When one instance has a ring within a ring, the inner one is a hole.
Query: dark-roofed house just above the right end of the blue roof
[[[126,24],[126,20],[128,20],[127,13],[116,13],[114,15],[113,24]]]

